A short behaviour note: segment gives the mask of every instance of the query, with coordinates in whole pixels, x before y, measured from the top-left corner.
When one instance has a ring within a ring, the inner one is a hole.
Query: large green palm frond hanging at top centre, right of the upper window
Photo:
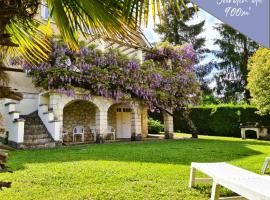
[[[57,27],[64,40],[76,48],[79,32],[84,37],[104,35],[138,42],[140,35],[135,23],[123,17],[123,4],[112,0],[48,0]]]

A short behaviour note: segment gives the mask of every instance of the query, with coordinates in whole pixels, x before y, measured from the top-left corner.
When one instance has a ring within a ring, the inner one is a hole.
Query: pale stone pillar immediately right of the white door
[[[141,110],[138,105],[131,112],[131,140],[142,139]]]

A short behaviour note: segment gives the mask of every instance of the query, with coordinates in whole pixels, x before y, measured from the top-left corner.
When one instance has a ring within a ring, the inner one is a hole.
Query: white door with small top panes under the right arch
[[[116,109],[117,138],[131,138],[131,109]]]

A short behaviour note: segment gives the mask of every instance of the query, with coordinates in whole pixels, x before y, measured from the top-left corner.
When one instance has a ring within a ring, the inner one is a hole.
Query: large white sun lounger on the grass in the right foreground
[[[211,178],[196,178],[196,170]],[[227,163],[191,163],[189,187],[197,182],[213,182],[211,200],[251,199],[270,200],[270,178],[255,174]],[[220,186],[239,194],[241,197],[219,198]]]

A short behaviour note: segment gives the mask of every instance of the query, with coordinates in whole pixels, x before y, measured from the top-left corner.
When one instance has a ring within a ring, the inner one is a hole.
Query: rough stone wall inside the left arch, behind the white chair
[[[90,129],[96,124],[96,107],[87,101],[75,101],[64,108],[63,136],[64,142],[73,141],[73,129],[75,126],[84,126],[85,142],[93,141]],[[77,141],[80,141],[78,138]]]

